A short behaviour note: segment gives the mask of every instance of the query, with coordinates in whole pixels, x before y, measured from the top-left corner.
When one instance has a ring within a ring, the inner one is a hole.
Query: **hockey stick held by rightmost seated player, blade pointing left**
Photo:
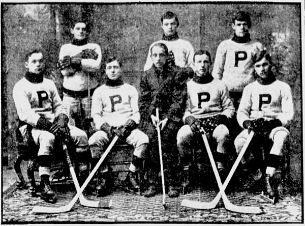
[[[250,133],[249,138],[247,139],[245,145],[243,145],[240,153],[238,154],[224,184],[223,184],[223,189],[225,190],[231,180],[231,178],[233,177],[233,174],[243,156],[243,154],[245,154],[252,138],[253,138],[254,132]],[[196,208],[196,209],[214,209],[217,204],[219,203],[221,199],[221,193],[218,192],[218,194],[216,195],[216,197],[214,198],[214,200],[212,200],[211,202],[199,202],[199,201],[190,201],[190,200],[183,200],[181,203],[181,206],[185,206],[185,207],[189,207],[189,208]]]

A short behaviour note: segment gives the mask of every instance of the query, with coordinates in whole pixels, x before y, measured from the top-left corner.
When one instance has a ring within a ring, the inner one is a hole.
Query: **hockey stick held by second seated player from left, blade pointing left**
[[[62,206],[62,207],[35,206],[32,211],[35,213],[64,213],[64,212],[70,211],[72,209],[72,207],[74,206],[74,204],[76,203],[76,201],[78,200],[81,193],[83,192],[83,190],[85,189],[85,187],[87,186],[87,184],[90,182],[90,180],[93,178],[95,173],[98,171],[100,165],[102,164],[102,162],[104,161],[104,159],[106,158],[106,156],[108,155],[108,153],[110,152],[110,150],[112,149],[114,144],[116,143],[117,139],[118,139],[118,136],[115,136],[113,138],[112,142],[110,143],[110,145],[108,146],[108,148],[106,149],[106,151],[104,152],[104,154],[102,155],[102,157],[100,158],[100,160],[98,161],[96,166],[93,168],[92,172],[89,174],[88,178],[85,180],[85,182],[83,183],[81,188],[77,191],[77,194],[73,197],[73,199],[71,200],[71,202],[69,204],[67,204],[66,206]]]

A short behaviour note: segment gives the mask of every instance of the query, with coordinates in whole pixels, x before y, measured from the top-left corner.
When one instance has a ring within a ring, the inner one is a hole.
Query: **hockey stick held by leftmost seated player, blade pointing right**
[[[74,171],[74,168],[73,168],[73,165],[72,165],[72,162],[71,162],[71,159],[70,159],[70,156],[69,156],[69,153],[68,153],[68,148],[67,148],[67,145],[64,143],[63,144],[63,150],[65,152],[65,155],[66,155],[66,159],[67,159],[67,162],[69,164],[69,169],[70,169],[70,173],[72,175],[72,179],[73,179],[73,183],[75,185],[75,188],[76,188],[76,191],[79,191],[80,189],[80,186],[79,186],[79,183],[78,183],[78,180],[77,180],[77,177],[76,177],[76,174],[75,174],[75,171]],[[83,194],[81,194],[79,196],[79,202],[82,206],[86,206],[86,207],[95,207],[95,208],[110,208],[111,207],[111,200],[110,202],[103,202],[103,201],[93,201],[93,200],[87,200]]]

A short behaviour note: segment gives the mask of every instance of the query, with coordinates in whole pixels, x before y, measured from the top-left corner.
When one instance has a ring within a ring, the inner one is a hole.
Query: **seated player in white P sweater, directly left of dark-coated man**
[[[148,137],[137,129],[140,122],[138,92],[135,87],[123,82],[121,66],[120,60],[115,57],[108,58],[105,67],[106,84],[96,89],[93,94],[92,118],[98,131],[89,138],[89,147],[94,166],[115,134],[127,144],[134,146],[126,182],[127,189],[138,193],[139,170],[142,170]],[[97,195],[104,196],[110,192],[106,162],[102,163],[98,179]]]

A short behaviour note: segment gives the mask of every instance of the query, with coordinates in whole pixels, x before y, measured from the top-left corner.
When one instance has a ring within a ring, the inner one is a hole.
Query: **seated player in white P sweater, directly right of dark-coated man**
[[[198,145],[202,147],[202,137],[197,126],[202,126],[207,136],[216,140],[216,160],[219,170],[223,170],[223,162],[227,159],[226,145],[229,139],[227,125],[235,109],[224,82],[211,76],[210,65],[211,57],[208,51],[195,52],[195,74],[187,83],[188,100],[183,117],[186,125],[182,126],[177,134],[180,164],[183,166],[183,193],[186,193],[192,184],[190,166],[194,143],[199,143]]]

